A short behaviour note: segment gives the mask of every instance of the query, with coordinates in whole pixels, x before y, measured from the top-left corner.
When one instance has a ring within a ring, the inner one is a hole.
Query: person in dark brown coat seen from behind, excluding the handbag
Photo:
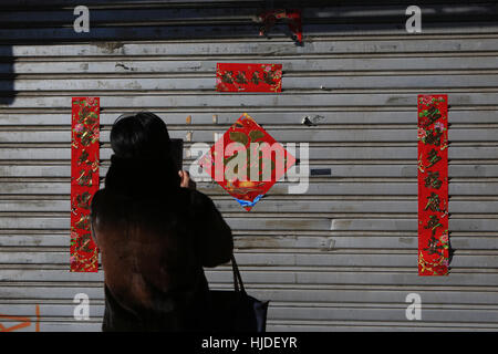
[[[118,117],[111,145],[91,217],[104,270],[103,331],[208,329],[203,267],[230,260],[230,228],[188,173],[177,170],[158,116]]]

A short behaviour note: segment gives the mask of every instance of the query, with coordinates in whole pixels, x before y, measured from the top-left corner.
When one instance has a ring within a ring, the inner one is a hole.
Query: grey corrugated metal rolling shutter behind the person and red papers
[[[40,304],[41,331],[101,327],[102,271],[69,272],[71,96],[95,95],[101,176],[112,123],[137,108],[208,144],[248,112],[281,143],[309,142],[312,169],[331,168],[304,195],[277,184],[250,212],[198,185],[234,229],[249,292],[272,301],[268,330],[498,330],[496,4],[418,1],[422,34],[405,32],[400,1],[307,8],[300,48],[283,28],[258,37],[250,15],[262,1],[85,2],[90,34],[72,30],[80,1],[0,8],[0,314]],[[217,62],[282,63],[283,92],[219,94]],[[417,275],[419,93],[449,95],[446,278]],[[308,127],[303,116],[321,118]],[[207,274],[231,287],[228,267]],[[73,319],[80,292],[90,321]],[[412,292],[422,321],[405,317]]]

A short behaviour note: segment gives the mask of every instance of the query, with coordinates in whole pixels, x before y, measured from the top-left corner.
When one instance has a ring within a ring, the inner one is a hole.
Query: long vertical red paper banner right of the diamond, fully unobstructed
[[[447,275],[448,96],[418,95],[418,275]]]

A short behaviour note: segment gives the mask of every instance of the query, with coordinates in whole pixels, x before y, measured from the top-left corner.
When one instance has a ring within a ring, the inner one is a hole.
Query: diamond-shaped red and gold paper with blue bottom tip
[[[230,158],[236,154],[228,154],[226,147],[230,143],[240,143],[246,147],[247,159],[246,165],[242,168],[248,168],[247,180],[227,180],[226,165]],[[271,154],[271,158],[261,155],[256,162],[251,158],[250,144],[251,143],[268,143],[270,146],[274,146],[278,149],[281,148],[282,154]],[[276,145],[273,145],[276,144]],[[222,152],[222,156],[217,156],[217,152]],[[227,154],[229,156],[227,156]],[[277,158],[283,158],[281,162],[277,162]],[[250,179],[250,168],[248,166],[255,166],[259,164],[259,178],[258,180]],[[270,164],[271,179],[264,180],[263,169],[266,164]],[[277,168],[277,164],[283,168]],[[295,164],[295,157],[287,152],[283,146],[278,143],[270,134],[268,134],[256,121],[247,113],[242,114],[240,118],[228,128],[227,132],[211,146],[200,159],[203,168],[225,189],[246,210],[251,208],[261,199],[264,194],[278,181],[284,173]]]

